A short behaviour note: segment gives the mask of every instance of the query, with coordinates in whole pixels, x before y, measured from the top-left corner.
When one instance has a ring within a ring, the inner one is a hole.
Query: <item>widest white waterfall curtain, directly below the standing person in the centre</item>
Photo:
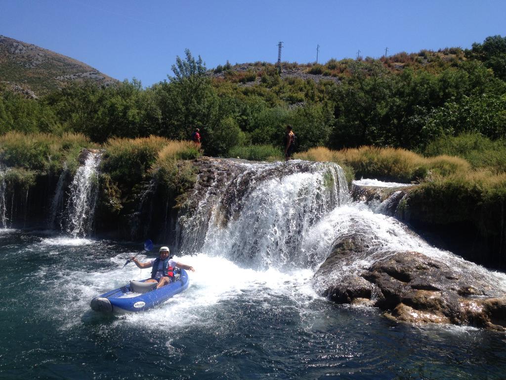
[[[212,181],[190,196],[195,206],[179,219],[180,252],[200,250],[254,268],[307,263],[304,236],[349,202],[343,169],[303,161],[239,167],[228,181]]]

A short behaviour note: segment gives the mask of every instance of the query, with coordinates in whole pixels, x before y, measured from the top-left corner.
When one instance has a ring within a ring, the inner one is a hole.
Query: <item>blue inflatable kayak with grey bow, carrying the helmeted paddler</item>
[[[173,282],[159,289],[154,289],[157,283],[145,281],[132,280],[129,285],[101,294],[92,299],[90,306],[103,313],[142,312],[181,293],[189,285],[188,274],[184,269],[175,276]]]

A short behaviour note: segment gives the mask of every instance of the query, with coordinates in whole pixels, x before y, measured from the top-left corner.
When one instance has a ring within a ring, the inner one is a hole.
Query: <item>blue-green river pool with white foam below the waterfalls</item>
[[[336,306],[314,294],[310,271],[181,257],[196,272],[171,301],[137,315],[92,312],[94,295],[147,277],[132,264],[121,269],[136,249],[2,231],[0,378],[506,377],[504,334]]]

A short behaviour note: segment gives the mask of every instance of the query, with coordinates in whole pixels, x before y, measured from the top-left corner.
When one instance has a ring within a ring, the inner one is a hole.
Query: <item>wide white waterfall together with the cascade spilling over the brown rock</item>
[[[257,270],[317,270],[336,241],[359,233],[370,237],[377,249],[341,273],[363,269],[388,251],[409,250],[437,257],[456,271],[472,269],[506,287],[506,276],[431,247],[403,223],[377,214],[389,202],[375,208],[349,202],[344,172],[335,164],[244,164],[228,182],[211,183],[203,196],[195,192],[191,197],[200,199],[194,211],[180,219],[182,254],[223,257]]]

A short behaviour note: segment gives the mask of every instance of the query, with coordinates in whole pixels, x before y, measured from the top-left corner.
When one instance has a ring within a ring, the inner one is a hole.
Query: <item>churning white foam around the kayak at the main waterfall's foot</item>
[[[60,271],[51,279],[46,279],[53,295],[66,299],[66,309],[62,314],[61,305],[53,305],[51,314],[63,317],[63,328],[71,328],[81,323],[80,316],[90,310],[90,300],[108,290],[128,284],[132,279],[145,279],[151,269],[140,270],[135,264],[122,266],[128,254],[118,254],[109,260],[115,269],[103,271]],[[140,261],[149,258],[139,255]],[[301,310],[304,305],[319,296],[313,290],[310,279],[312,271],[301,269],[297,273],[281,273],[275,269],[255,271],[240,268],[230,260],[205,254],[175,257],[176,261],[192,265],[195,272],[188,272],[190,285],[160,306],[142,313],[128,314],[114,323],[128,323],[141,329],[186,328],[193,325],[217,326],[221,323],[221,303],[247,297],[246,302],[270,305],[269,299],[288,297],[293,299]],[[107,262],[107,259],[105,260]],[[38,276],[45,277],[47,271],[40,268]],[[62,286],[63,285],[63,286]],[[240,302],[244,302],[241,300]],[[51,307],[51,306],[48,306]],[[304,311],[301,311],[304,312]]]

